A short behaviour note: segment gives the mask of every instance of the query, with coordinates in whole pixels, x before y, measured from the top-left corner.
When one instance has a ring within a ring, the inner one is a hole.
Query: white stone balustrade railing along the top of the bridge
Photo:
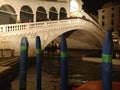
[[[0,32],[12,32],[18,30],[28,30],[32,28],[46,27],[46,26],[65,26],[68,24],[74,24],[80,22],[83,19],[67,19],[67,20],[56,20],[56,21],[43,21],[43,22],[32,22],[32,23],[18,23],[18,24],[6,24],[0,25]]]

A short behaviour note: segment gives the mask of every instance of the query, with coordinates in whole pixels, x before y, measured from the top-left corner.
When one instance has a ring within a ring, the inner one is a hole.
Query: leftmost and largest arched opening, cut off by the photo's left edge
[[[17,15],[12,6],[5,4],[0,7],[0,24],[13,24],[16,19]]]

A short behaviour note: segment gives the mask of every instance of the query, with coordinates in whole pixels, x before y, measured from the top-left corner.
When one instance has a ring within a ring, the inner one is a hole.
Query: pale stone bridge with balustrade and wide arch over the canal
[[[67,33],[66,33],[67,32]],[[29,42],[29,55],[35,55],[35,37],[40,36],[42,50],[59,35],[66,33],[69,48],[101,48],[104,30],[88,19],[66,19],[0,25],[0,49],[15,49],[19,55],[21,37]]]

